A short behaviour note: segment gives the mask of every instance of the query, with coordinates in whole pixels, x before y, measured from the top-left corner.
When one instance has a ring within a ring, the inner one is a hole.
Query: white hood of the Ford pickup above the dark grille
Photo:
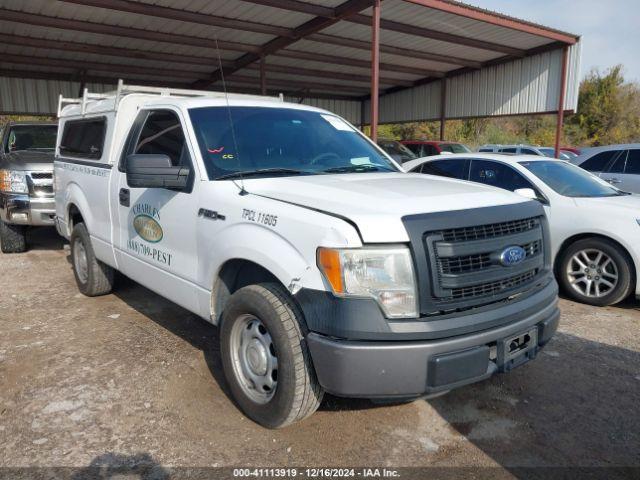
[[[358,173],[245,180],[250,194],[354,223],[367,243],[408,242],[402,217],[524,203],[505,190],[423,174]],[[482,220],[479,219],[481,223]]]

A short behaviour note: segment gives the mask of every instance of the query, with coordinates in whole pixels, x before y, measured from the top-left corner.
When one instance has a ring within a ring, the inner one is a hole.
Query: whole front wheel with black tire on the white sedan
[[[605,238],[585,238],[561,254],[558,280],[581,303],[604,307],[621,302],[634,287],[633,261],[618,244]]]

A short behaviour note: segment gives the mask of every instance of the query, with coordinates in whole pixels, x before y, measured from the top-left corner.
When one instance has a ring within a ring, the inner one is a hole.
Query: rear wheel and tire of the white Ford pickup
[[[69,243],[73,275],[80,293],[87,297],[109,293],[113,288],[114,270],[96,258],[84,223],[78,223],[73,227]]]

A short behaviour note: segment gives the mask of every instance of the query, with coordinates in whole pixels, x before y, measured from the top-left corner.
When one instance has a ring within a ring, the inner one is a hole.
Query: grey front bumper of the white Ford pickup
[[[318,380],[344,397],[416,398],[445,392],[509,371],[536,356],[558,328],[557,300],[498,328],[428,341],[353,341],[310,333],[307,343]],[[515,358],[509,342],[531,344]]]

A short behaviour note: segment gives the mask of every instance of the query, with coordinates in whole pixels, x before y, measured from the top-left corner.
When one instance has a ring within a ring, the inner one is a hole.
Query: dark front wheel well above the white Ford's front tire
[[[215,323],[224,311],[224,307],[237,290],[256,283],[282,282],[266,268],[245,259],[228,260],[220,269],[211,292],[211,319]]]

